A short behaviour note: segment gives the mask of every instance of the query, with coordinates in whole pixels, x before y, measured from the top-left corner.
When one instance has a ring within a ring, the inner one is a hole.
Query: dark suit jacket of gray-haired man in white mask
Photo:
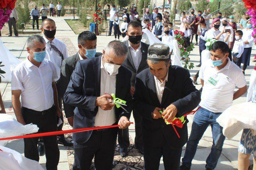
[[[89,58],[78,61],[75,70],[71,75],[68,88],[63,100],[66,104],[76,107],[74,110],[74,129],[94,127],[94,119],[98,112],[95,107],[96,98],[100,96],[101,85],[101,57]],[[116,75],[116,97],[125,100],[127,111],[121,107],[115,109],[116,118],[126,116],[130,118],[132,112],[132,96],[130,95],[130,71],[121,66]],[[73,134],[77,143],[85,143],[91,136],[92,131]]]

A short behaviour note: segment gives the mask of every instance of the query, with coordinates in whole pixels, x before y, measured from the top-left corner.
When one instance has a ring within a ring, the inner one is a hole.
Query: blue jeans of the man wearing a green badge
[[[197,145],[202,138],[207,127],[212,127],[213,145],[211,152],[206,159],[206,168],[214,169],[218,163],[218,159],[222,152],[225,136],[222,133],[222,127],[217,123],[216,119],[221,113],[213,113],[207,109],[200,108],[194,115],[190,137],[187,142],[182,164],[191,167],[191,162],[196,154]]]

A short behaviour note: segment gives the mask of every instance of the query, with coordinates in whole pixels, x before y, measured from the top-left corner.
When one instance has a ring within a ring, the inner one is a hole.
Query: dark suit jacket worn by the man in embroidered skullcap
[[[196,108],[201,101],[200,92],[192,84],[188,70],[179,66],[170,66],[168,80],[165,83],[162,102],[156,95],[154,75],[149,69],[143,70],[136,77],[135,92],[133,95],[134,109],[143,117],[142,136],[143,143],[148,146],[161,146],[163,136],[171,148],[180,149],[188,140],[187,123],[183,128],[175,128],[180,135],[176,135],[172,125],[166,125],[164,119],[153,119],[152,112],[155,107],[166,108],[174,104],[178,109],[176,117]]]

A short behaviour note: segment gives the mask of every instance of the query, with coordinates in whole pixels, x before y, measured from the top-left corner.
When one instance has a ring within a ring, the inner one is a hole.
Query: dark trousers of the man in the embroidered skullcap
[[[164,168],[166,170],[179,170],[181,152],[182,148],[171,148],[166,142],[165,138],[162,142],[162,145],[159,147],[144,145],[144,169],[159,169],[160,159],[163,157]]]

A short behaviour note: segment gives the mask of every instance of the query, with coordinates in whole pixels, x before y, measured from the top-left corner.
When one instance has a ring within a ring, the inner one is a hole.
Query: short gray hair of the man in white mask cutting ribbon
[[[105,49],[106,55],[108,55],[110,51],[112,51],[117,57],[123,57],[127,56],[128,48],[123,42],[115,40],[108,43]]]

